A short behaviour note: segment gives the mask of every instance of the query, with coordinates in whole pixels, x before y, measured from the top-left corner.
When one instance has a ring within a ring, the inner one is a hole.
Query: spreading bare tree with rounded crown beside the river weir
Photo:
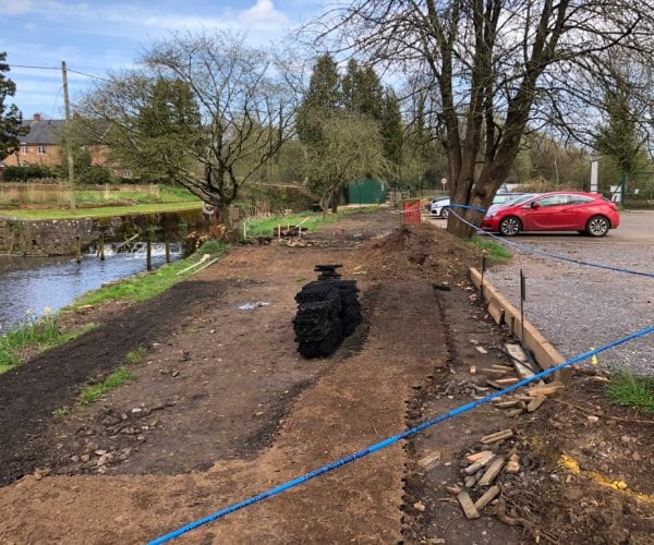
[[[289,72],[228,33],[173,35],[143,61],[96,88],[81,111],[109,122],[123,157],[156,166],[228,221],[241,186],[290,136]]]

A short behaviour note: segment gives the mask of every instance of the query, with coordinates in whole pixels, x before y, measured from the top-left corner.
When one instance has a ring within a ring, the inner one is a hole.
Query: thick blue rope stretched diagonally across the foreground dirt
[[[314,477],[317,477],[324,473],[327,473],[329,471],[332,471],[337,468],[340,468],[341,465],[346,465],[347,463],[353,462],[354,460],[359,460],[360,458],[363,458],[367,455],[372,455],[373,452],[376,452],[378,450],[382,450],[386,447],[389,447],[390,445],[393,445],[398,441],[400,441],[401,439],[405,439],[407,437],[411,437],[412,435],[417,434],[419,432],[422,432],[423,429],[426,429],[427,427],[431,427],[435,424],[438,424],[440,422],[444,422],[448,419],[452,419],[453,416],[458,416],[459,414],[462,414],[464,412],[468,412],[472,409],[475,409],[477,407],[480,407],[481,404],[487,403],[488,401],[495,399],[495,398],[499,398],[501,396],[506,396],[507,393],[510,393],[513,390],[517,390],[518,388],[521,388],[522,386],[525,386],[528,384],[534,383],[536,380],[540,380],[543,377],[553,375],[554,373],[562,370],[564,367],[567,367],[569,365],[572,365],[574,363],[581,362],[583,360],[588,360],[589,358],[592,358],[595,354],[598,354],[600,352],[604,352],[605,350],[609,350],[614,347],[617,347],[619,344],[623,344],[625,342],[629,342],[630,340],[637,339],[639,337],[644,337],[646,335],[650,335],[654,332],[654,325],[650,326],[650,327],[645,327],[644,329],[641,329],[640,331],[637,331],[634,334],[628,335],[627,337],[623,337],[621,339],[618,339],[616,341],[609,342],[608,344],[604,344],[603,347],[600,347],[597,349],[591,350],[589,352],[584,352],[583,354],[578,355],[577,358],[573,358],[571,360],[568,360],[567,362],[561,363],[560,365],[557,365],[555,367],[550,367],[548,370],[543,371],[542,373],[538,373],[537,375],[534,375],[532,377],[529,378],[524,378],[507,388],[505,388],[504,390],[500,391],[496,391],[494,393],[491,393],[488,396],[486,396],[485,398],[482,399],[477,399],[471,403],[461,405],[457,409],[453,409],[445,414],[441,414],[439,416],[436,416],[435,419],[428,420],[426,422],[423,422],[422,424],[419,424],[415,427],[411,427],[409,429],[405,429],[404,432],[402,432],[399,435],[393,435],[392,437],[388,437],[387,439],[384,439],[379,443],[376,443],[375,445],[372,445],[367,448],[364,448],[362,450],[358,450],[356,452],[353,452],[349,456],[346,456],[343,458],[340,458],[331,463],[328,463],[326,465],[323,465],[322,468],[318,468],[314,471],[311,471],[308,473],[305,473],[304,475],[301,475],[299,477],[295,477],[291,481],[288,481],[287,483],[283,483],[282,485],[279,485],[275,488],[270,488],[267,492],[264,492],[263,494],[258,494],[256,496],[252,496],[247,499],[244,499],[243,501],[240,501],[238,504],[233,504],[231,506],[228,506],[219,511],[216,511],[211,514],[208,514],[206,517],[203,517],[202,519],[197,519],[194,522],[191,522],[178,530],[174,530],[166,535],[162,535],[161,537],[158,537],[156,540],[153,540],[148,543],[148,545],[158,545],[161,543],[166,543],[169,542],[171,540],[174,540],[183,534],[185,534],[186,532],[190,532],[191,530],[194,530],[198,526],[202,526],[203,524],[207,524],[208,522],[215,521],[217,519],[220,519],[222,517],[226,517],[229,513],[232,513],[234,511],[238,511],[239,509],[242,509],[244,507],[247,507],[252,504],[256,504],[258,501],[262,501],[266,498],[270,498],[272,496],[276,496],[278,494],[281,494],[282,492],[288,491],[289,488],[293,488],[294,486],[298,486],[302,483],[305,483]]]

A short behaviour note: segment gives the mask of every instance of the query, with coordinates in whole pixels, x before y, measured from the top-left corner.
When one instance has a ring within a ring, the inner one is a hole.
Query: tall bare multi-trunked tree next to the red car
[[[654,8],[633,0],[355,0],[307,32],[318,45],[335,40],[341,51],[428,73],[452,202],[485,208],[525,132],[589,130],[611,52],[651,62]],[[482,219],[472,209],[462,215]],[[448,229],[470,232],[456,219]]]

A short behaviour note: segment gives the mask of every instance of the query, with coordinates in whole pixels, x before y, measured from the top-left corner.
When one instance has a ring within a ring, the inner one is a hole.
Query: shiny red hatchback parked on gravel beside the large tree
[[[619,225],[616,205],[602,195],[557,191],[489,211],[482,229],[506,237],[521,231],[579,231],[604,237]]]

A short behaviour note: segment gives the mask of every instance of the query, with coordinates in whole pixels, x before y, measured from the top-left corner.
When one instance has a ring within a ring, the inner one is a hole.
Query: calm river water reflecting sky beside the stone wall
[[[131,253],[105,250],[105,261],[87,254],[81,264],[70,257],[0,256],[0,335],[8,328],[71,303],[75,298],[107,282],[128,278],[146,269],[143,247]],[[171,259],[181,257],[171,246]],[[166,263],[164,244],[153,244],[153,267]]]

